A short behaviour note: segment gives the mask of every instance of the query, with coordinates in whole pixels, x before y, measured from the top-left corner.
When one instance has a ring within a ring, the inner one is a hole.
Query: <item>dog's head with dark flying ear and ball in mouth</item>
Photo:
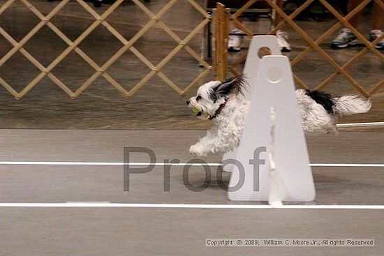
[[[232,94],[243,93],[245,86],[242,77],[232,77],[225,81],[211,81],[199,87],[196,96],[186,100],[199,119],[213,116],[220,105]]]

